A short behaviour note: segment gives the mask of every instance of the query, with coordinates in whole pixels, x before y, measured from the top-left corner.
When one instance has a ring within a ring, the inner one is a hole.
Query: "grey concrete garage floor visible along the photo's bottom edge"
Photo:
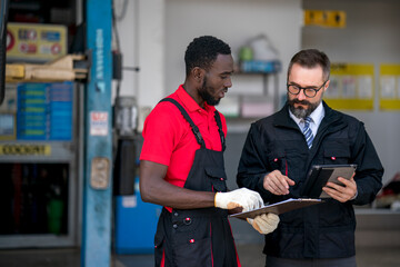
[[[243,267],[263,267],[261,244],[238,245]],[[399,267],[400,248],[359,247],[358,267]],[[77,267],[80,266],[79,249],[24,249],[0,250],[1,267]],[[112,267],[151,267],[152,255],[113,255]]]

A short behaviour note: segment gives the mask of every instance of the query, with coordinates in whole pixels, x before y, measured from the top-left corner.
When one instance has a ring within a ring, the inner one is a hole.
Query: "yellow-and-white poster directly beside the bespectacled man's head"
[[[334,109],[373,110],[373,65],[332,63],[324,100]]]

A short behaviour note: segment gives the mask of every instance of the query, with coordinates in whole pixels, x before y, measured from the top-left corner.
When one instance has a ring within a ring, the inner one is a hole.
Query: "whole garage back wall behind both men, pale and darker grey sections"
[[[126,2],[128,4],[123,6]],[[290,57],[300,48],[317,47],[332,61],[372,62],[376,72],[381,62],[400,62],[400,17],[396,13],[400,2],[397,0],[116,0],[114,3],[118,14],[126,9],[124,17],[117,23],[124,66],[140,67],[139,72],[123,71],[121,95],[138,98],[142,119],[160,98],[183,82],[184,50],[201,34],[223,39],[230,43],[233,56],[249,38],[267,34],[282,61],[280,93],[284,93],[284,70]],[[347,28],[303,28],[302,8],[344,10]],[[238,90],[261,90],[257,89],[262,87],[261,79],[246,80],[236,76],[228,96]],[[374,80],[378,89],[378,77]],[[384,181],[388,181],[399,171],[399,112],[380,111],[378,97],[373,111],[349,112],[364,121],[386,168]],[[248,126],[249,122],[243,123],[242,135]]]

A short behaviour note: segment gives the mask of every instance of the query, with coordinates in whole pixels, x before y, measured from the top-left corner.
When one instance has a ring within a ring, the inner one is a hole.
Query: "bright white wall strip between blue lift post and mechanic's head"
[[[114,11],[123,55],[120,95],[136,97],[141,130],[146,116],[164,95],[166,0],[114,0]]]

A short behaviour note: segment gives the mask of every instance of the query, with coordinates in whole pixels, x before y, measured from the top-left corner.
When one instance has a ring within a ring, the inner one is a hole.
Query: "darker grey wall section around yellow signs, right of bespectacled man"
[[[336,62],[373,63],[376,101],[372,111],[346,111],[366,123],[386,169],[383,181],[400,171],[400,111],[379,110],[379,65],[400,65],[400,2],[397,0],[303,0],[304,9],[343,10],[344,29],[304,27],[302,48],[316,47]]]

